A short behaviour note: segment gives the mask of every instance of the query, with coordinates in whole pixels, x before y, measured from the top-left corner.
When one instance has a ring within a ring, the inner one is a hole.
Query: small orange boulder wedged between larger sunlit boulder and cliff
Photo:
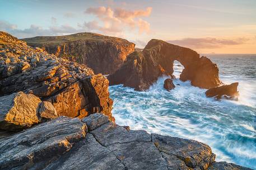
[[[53,104],[48,101],[43,101],[39,106],[39,115],[41,118],[55,119],[57,118],[57,111]]]

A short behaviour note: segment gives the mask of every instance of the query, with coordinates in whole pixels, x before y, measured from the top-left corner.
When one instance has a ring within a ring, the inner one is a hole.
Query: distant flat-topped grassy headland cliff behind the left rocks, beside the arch
[[[94,72],[112,74],[134,51],[134,43],[96,33],[23,39],[28,45],[43,48],[50,54],[85,64]]]

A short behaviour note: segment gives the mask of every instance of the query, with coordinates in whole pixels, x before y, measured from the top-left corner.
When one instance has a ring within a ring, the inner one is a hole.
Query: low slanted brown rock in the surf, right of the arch
[[[223,85],[217,88],[212,88],[206,91],[207,98],[215,97],[216,99],[232,99],[238,100],[238,82],[234,82],[230,85]]]

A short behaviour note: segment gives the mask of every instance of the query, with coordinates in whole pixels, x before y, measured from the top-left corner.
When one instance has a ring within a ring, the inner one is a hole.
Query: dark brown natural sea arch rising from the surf
[[[196,51],[172,45],[161,40],[151,40],[142,52],[127,57],[124,65],[108,76],[110,85],[124,84],[135,90],[146,90],[162,75],[173,75],[173,62],[178,60],[184,70],[180,80],[190,80],[199,88],[210,89],[221,84],[218,67]]]

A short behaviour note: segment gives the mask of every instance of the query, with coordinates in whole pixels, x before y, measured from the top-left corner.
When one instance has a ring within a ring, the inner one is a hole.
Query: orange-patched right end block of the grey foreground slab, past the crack
[[[167,137],[151,134],[152,142],[160,150],[171,156],[181,159],[187,167],[196,169],[207,169],[215,161],[215,154],[211,148],[196,140],[188,140],[176,137]],[[166,158],[169,162],[171,159]]]

